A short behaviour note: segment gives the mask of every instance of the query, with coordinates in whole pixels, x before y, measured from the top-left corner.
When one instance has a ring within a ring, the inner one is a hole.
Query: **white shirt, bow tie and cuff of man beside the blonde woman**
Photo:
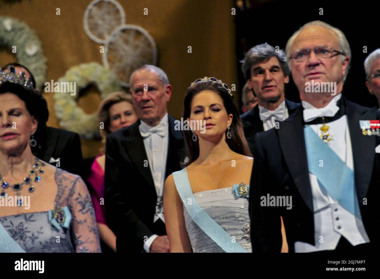
[[[144,146],[145,151],[148,157],[148,163],[150,167],[150,172],[152,173],[154,186],[156,188],[157,197],[161,197],[163,195],[163,188],[165,183],[165,172],[166,172],[166,159],[168,156],[168,144],[169,144],[169,117],[168,113],[161,119],[160,123],[157,126],[163,125],[165,126],[165,135],[162,137],[156,132],[153,132],[147,137],[144,137]],[[150,128],[149,125],[141,121],[140,126],[144,130]],[[145,127],[144,127],[145,126]],[[141,129],[140,129],[141,132]],[[156,206],[155,214],[153,222],[156,222],[158,219],[161,219],[165,222],[163,215],[163,207]],[[147,241],[144,243],[145,251],[149,252],[150,245],[153,241],[158,237],[158,235],[150,236]]]

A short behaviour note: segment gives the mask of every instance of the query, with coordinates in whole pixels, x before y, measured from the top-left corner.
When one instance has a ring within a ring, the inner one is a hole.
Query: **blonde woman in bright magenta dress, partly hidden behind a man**
[[[104,203],[101,203],[101,199],[104,198],[105,140],[111,132],[130,126],[137,121],[130,94],[124,92],[110,94],[101,102],[98,118],[100,122],[104,123],[104,129],[100,129],[103,147],[91,165],[91,173],[87,181],[91,186],[90,194],[100,239],[116,252],[116,236],[107,225],[105,206]]]

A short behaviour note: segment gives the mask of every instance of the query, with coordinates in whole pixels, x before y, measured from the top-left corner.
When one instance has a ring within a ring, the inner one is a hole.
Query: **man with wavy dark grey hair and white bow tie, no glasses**
[[[285,99],[290,71],[283,50],[276,51],[267,43],[258,44],[245,54],[242,62],[244,77],[258,102],[258,106],[240,116],[253,154],[255,134],[275,127],[276,121],[288,118],[299,104]]]

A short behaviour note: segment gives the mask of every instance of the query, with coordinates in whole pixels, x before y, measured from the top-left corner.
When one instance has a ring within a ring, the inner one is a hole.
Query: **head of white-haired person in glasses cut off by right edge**
[[[380,107],[380,49],[371,52],[364,60],[364,70],[368,91],[375,95]]]

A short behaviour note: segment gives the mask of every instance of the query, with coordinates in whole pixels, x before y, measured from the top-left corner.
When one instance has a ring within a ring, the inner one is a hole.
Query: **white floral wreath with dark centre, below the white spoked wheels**
[[[117,76],[99,63],[84,63],[67,70],[65,76],[60,77],[58,82],[76,82],[76,95],[70,92],[54,93],[55,115],[59,120],[59,125],[69,131],[77,132],[84,139],[93,139],[99,136],[97,112],[88,114],[81,107],[77,106],[79,91],[87,85],[95,84],[100,93],[101,99],[108,94],[120,91],[120,82]]]

